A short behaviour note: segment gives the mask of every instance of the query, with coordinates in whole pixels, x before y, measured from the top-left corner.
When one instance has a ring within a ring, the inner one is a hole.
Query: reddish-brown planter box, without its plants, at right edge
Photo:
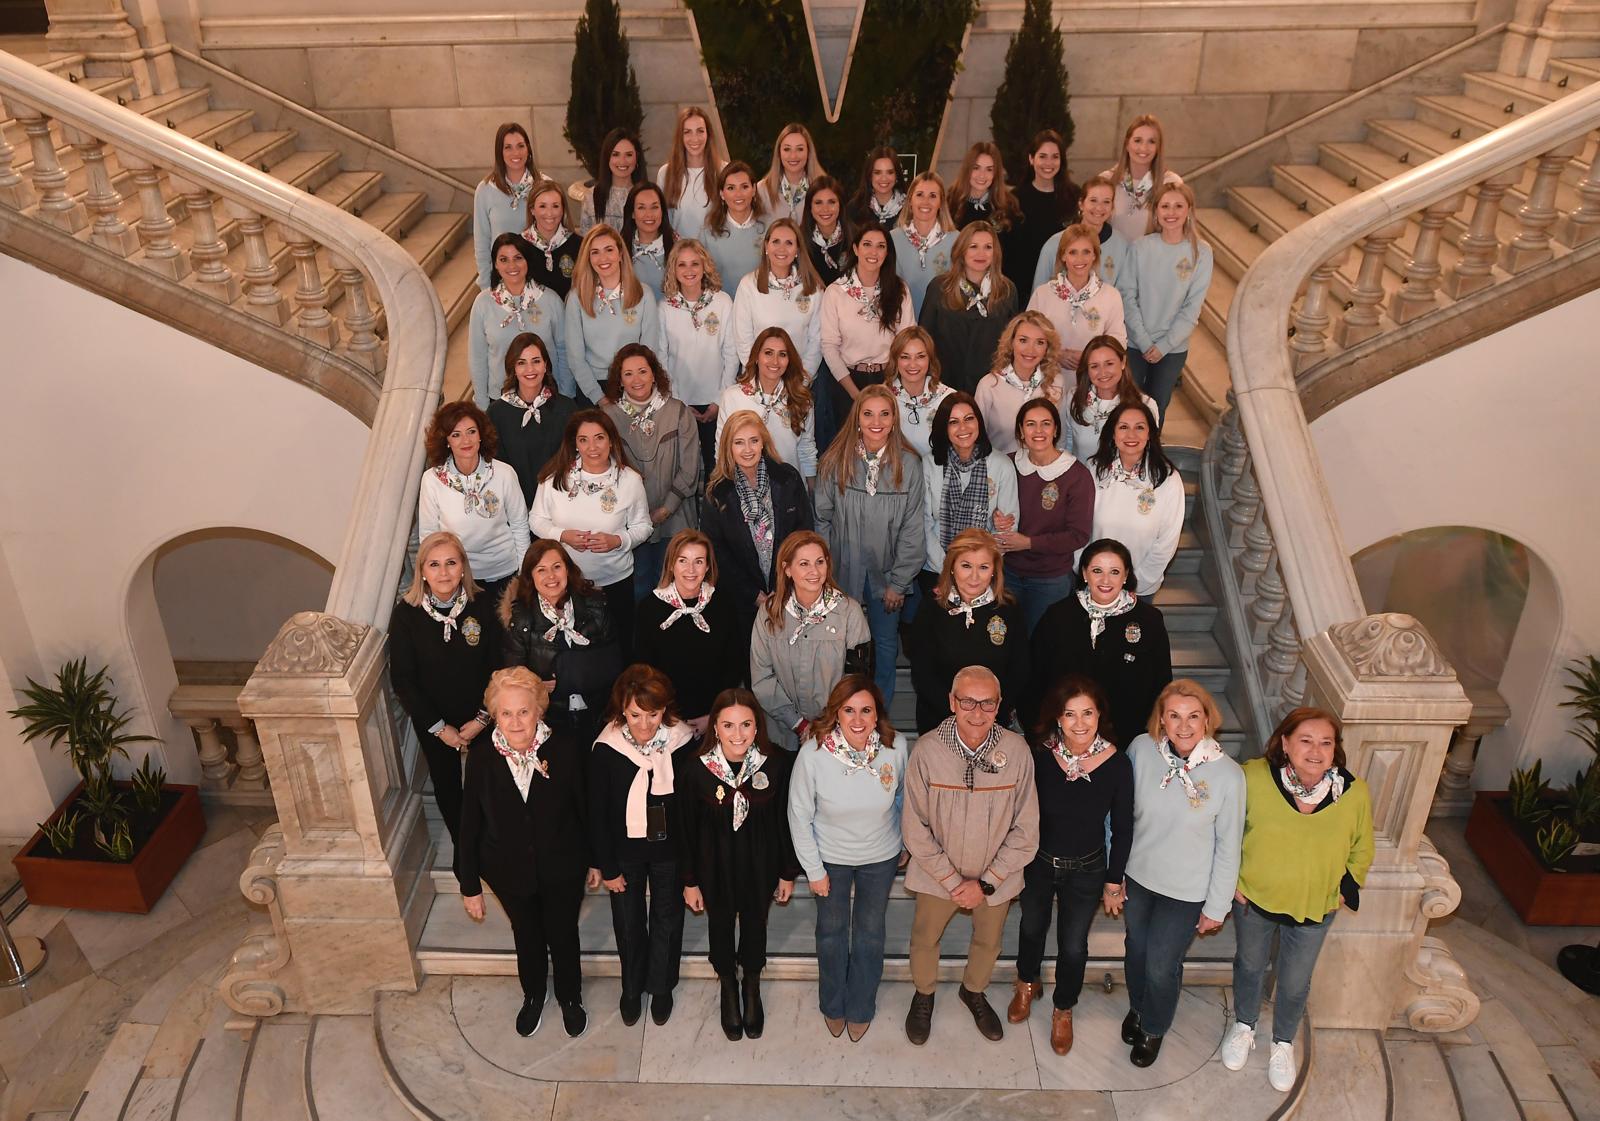
[[[1467,844],[1528,926],[1600,926],[1600,875],[1550,872],[1517,832],[1504,790],[1480,790],[1467,819]]]

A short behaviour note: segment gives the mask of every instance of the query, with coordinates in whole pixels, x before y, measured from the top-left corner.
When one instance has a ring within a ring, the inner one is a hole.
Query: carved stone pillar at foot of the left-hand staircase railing
[[[432,844],[400,760],[382,633],[293,616],[238,708],[278,809],[246,876],[274,934],[240,947],[224,998],[246,1015],[339,1014],[371,1011],[374,990],[414,990]]]

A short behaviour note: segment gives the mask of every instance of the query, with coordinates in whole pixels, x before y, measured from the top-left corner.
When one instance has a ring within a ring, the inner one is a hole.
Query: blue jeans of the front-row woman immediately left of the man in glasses
[[[870,1023],[877,1012],[883,924],[898,862],[896,854],[877,864],[822,864],[827,896],[816,897],[816,993],[822,1015],[832,1020]]]

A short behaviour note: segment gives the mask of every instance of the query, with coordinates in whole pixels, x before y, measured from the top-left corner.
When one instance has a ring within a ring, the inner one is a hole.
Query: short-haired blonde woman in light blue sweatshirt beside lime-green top
[[[1216,700],[1189,678],[1162,689],[1133,763],[1133,846],[1126,867],[1128,1017],[1122,1039],[1149,1067],[1173,1025],[1184,955],[1222,926],[1238,888],[1245,772],[1216,742]]]

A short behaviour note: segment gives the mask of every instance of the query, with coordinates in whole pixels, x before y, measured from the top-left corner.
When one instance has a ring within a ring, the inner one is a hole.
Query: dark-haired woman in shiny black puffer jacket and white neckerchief
[[[605,593],[587,580],[566,547],[539,537],[499,604],[506,665],[526,665],[550,689],[552,728],[594,744],[611,683],[622,672]]]

